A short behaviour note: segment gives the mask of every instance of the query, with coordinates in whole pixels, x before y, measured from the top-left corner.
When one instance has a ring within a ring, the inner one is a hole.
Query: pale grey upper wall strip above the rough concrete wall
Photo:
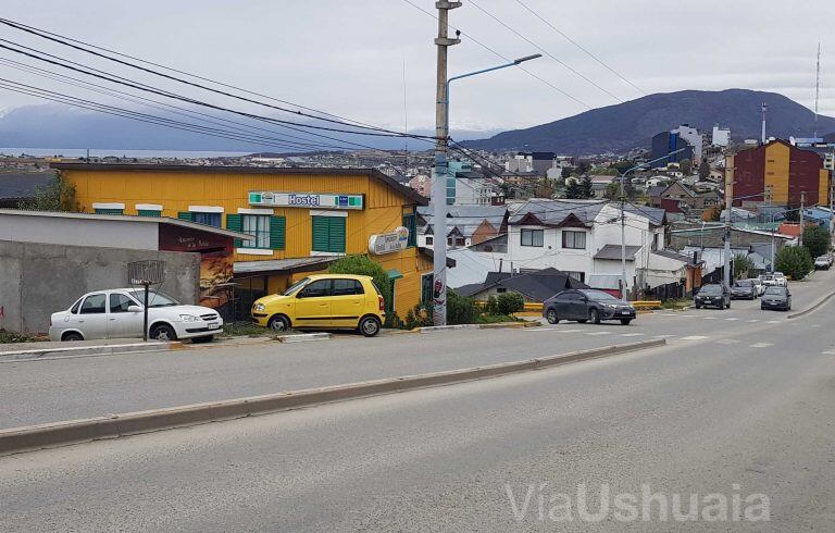
[[[158,223],[153,221],[137,223],[133,219],[119,220],[117,216],[115,219],[0,212],[0,240],[21,243],[55,243],[58,240],[62,245],[74,246],[113,246],[117,243],[124,248],[136,250],[159,248]]]

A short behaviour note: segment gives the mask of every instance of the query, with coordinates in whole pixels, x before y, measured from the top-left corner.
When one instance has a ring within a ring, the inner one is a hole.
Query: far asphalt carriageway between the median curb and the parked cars
[[[826,292],[835,272],[795,283],[800,309]],[[673,346],[758,335],[786,321],[758,301],[732,309],[641,314],[618,322],[526,330],[476,330],[364,338],[337,334],[321,343],[217,344],[194,350],[0,363],[0,429],[115,412],[173,407],[282,391],[453,370],[664,337]],[[800,319],[803,320],[803,319]],[[710,349],[710,348],[702,348]]]

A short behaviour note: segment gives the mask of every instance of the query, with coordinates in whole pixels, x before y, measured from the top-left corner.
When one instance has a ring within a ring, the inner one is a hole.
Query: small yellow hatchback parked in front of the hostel
[[[275,332],[297,330],[358,330],[366,337],[379,333],[385,301],[371,276],[313,274],[284,294],[252,303],[252,322]]]

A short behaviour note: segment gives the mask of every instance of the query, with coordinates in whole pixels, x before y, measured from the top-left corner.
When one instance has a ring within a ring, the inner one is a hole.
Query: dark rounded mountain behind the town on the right
[[[783,95],[747,89],[682,90],[649,95],[463,145],[484,150],[556,151],[576,156],[623,153],[633,148],[648,149],[653,135],[681,124],[702,132],[720,124],[731,128],[735,140],[760,138],[762,102],[769,107],[767,134],[770,137],[812,136],[814,113]],[[818,132],[835,132],[835,119],[819,116]]]

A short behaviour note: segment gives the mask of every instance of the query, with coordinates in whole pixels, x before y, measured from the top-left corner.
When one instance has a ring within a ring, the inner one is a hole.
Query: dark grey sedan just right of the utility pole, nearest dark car
[[[637,317],[635,308],[614,296],[587,288],[568,289],[543,302],[543,317],[548,323],[561,320],[576,320],[599,324],[601,320],[620,320],[628,325]]]

